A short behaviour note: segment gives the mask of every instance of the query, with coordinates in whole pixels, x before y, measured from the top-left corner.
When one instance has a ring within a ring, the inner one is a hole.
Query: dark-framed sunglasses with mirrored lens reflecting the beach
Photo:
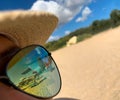
[[[6,76],[17,90],[37,98],[52,98],[61,89],[61,76],[51,53],[40,45],[20,49],[7,64]]]

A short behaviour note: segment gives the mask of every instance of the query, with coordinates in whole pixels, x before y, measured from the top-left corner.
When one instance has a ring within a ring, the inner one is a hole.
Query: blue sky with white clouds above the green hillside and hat
[[[1,0],[3,10],[39,10],[54,13],[59,24],[49,40],[89,26],[94,20],[108,19],[113,9],[120,10],[119,0]]]

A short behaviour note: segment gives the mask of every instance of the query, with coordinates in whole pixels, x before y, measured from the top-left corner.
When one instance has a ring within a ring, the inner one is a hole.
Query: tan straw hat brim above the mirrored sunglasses
[[[47,12],[23,10],[0,12],[0,34],[6,35],[20,47],[31,44],[43,45],[57,23],[58,18]]]

